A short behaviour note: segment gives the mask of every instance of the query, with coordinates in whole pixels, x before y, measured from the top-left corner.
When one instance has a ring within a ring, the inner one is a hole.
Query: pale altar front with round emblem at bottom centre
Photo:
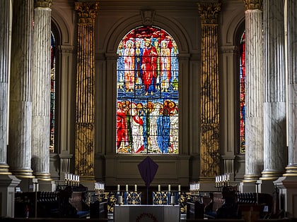
[[[175,205],[115,205],[115,222],[179,222],[180,206]]]

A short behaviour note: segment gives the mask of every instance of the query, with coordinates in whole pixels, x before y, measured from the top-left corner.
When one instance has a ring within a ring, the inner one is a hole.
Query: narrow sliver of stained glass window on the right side
[[[240,154],[245,153],[245,32],[240,39]]]

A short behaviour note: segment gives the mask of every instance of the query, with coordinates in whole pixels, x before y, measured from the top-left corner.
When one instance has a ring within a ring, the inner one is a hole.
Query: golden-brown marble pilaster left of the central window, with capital
[[[98,2],[76,1],[78,13],[78,55],[76,73],[75,173],[90,182],[94,176],[95,111],[95,18]]]

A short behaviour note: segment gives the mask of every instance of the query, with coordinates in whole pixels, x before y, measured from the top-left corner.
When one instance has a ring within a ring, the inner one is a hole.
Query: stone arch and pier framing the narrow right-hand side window
[[[233,10],[235,10],[233,8]],[[230,14],[230,15],[229,15]],[[245,158],[238,156],[239,147],[239,42],[238,30],[245,24],[245,13],[224,13],[227,18],[221,26],[220,110],[221,110],[221,173],[231,173],[231,180],[241,180],[245,171]],[[227,21],[227,22],[226,22]],[[228,23],[228,21],[230,21]],[[241,36],[241,35],[240,35]]]

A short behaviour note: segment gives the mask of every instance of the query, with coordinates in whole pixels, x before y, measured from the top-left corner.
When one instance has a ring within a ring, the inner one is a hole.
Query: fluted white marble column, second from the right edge
[[[284,2],[263,1],[264,24],[264,171],[275,180],[286,166],[286,75],[284,64]]]

